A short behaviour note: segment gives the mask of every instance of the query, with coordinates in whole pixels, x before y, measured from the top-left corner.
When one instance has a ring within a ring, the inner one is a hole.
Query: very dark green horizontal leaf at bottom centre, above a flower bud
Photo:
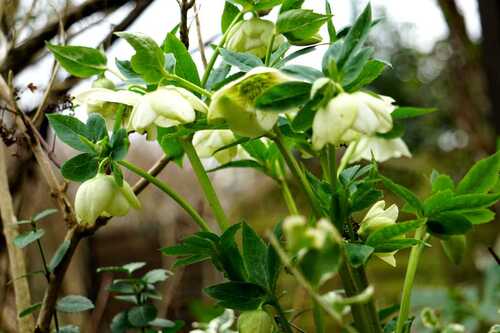
[[[205,293],[219,301],[225,308],[235,310],[255,310],[266,298],[260,286],[248,282],[226,282],[204,289]]]

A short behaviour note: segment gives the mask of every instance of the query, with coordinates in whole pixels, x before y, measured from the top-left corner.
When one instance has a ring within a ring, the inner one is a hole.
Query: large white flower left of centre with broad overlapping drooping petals
[[[196,119],[195,110],[207,112],[207,106],[188,90],[176,86],[158,87],[134,105],[128,128],[139,133],[148,132],[151,138],[156,126],[170,127],[193,122]]]

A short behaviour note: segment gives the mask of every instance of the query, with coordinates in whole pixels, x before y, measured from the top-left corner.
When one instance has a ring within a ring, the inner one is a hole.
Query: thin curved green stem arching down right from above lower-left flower
[[[200,216],[200,214],[198,214],[198,212],[196,211],[196,209],[194,209],[193,206],[191,206],[189,204],[189,202],[186,201],[186,199],[184,199],[181,195],[179,195],[177,192],[175,192],[167,183],[165,183],[165,182],[159,180],[158,178],[150,175],[146,170],[141,169],[138,166],[136,166],[136,165],[134,165],[134,164],[132,164],[130,162],[127,162],[125,160],[121,160],[118,163],[120,165],[124,166],[125,168],[129,169],[133,173],[135,173],[135,174],[141,176],[142,178],[146,179],[151,184],[155,185],[161,191],[163,191],[164,193],[166,193],[175,202],[177,202],[179,204],[179,206],[181,206],[186,211],[186,213],[189,214],[189,216],[191,216],[193,218],[194,222],[196,222],[196,224],[198,224],[198,226],[203,231],[211,231],[210,227],[207,224],[207,222],[205,222],[205,220]]]

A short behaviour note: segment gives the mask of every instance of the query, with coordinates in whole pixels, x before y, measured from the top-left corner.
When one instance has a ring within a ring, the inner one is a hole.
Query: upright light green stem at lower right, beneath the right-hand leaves
[[[420,241],[425,238],[426,227],[422,226],[415,232],[415,239]],[[415,282],[415,274],[417,273],[418,261],[424,248],[424,242],[419,243],[412,247],[410,252],[410,259],[408,261],[408,268],[406,269],[405,281],[403,284],[403,293],[401,295],[401,306],[399,308],[399,316],[396,324],[396,333],[403,333],[406,321],[410,315],[410,298],[413,283]]]

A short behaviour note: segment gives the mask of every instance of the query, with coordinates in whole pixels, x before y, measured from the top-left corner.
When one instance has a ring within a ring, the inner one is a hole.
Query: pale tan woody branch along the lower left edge
[[[28,280],[17,279],[27,273],[26,261],[21,249],[14,245],[14,239],[19,235],[17,227],[14,225],[16,216],[12,204],[12,197],[9,192],[9,181],[7,176],[6,147],[0,141],[0,213],[3,222],[3,233],[7,243],[9,254],[10,271],[14,284],[16,299],[16,310],[20,313],[31,305],[31,296]],[[18,330],[21,333],[33,332],[35,322],[33,316],[25,316],[18,319]]]

